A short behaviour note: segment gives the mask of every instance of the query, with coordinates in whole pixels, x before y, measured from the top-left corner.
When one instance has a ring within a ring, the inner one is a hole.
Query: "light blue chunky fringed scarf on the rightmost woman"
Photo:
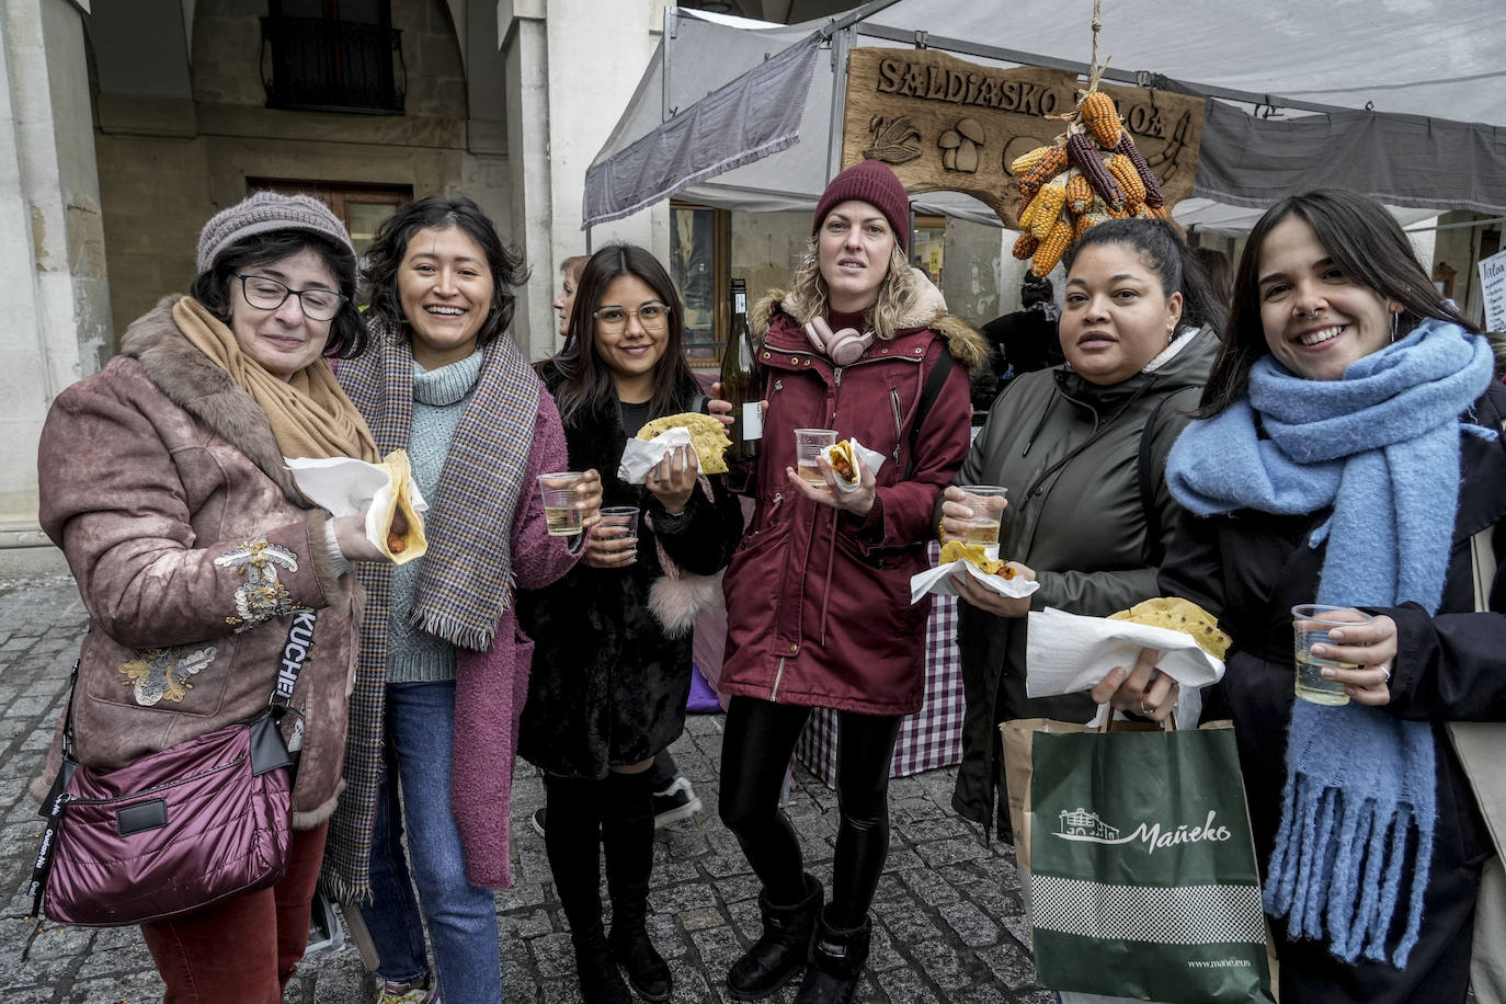
[[[1491,373],[1485,339],[1441,321],[1357,360],[1340,381],[1294,376],[1267,355],[1251,367],[1247,399],[1187,426],[1167,483],[1199,516],[1331,509],[1309,540],[1327,540],[1318,602],[1414,601],[1437,613],[1459,504],[1459,435],[1495,435],[1459,415]],[[1288,918],[1292,938],[1327,938],[1346,962],[1363,953],[1407,965],[1432,859],[1434,769],[1428,723],[1295,701],[1265,888],[1265,909]],[[1387,945],[1401,902],[1407,924]]]

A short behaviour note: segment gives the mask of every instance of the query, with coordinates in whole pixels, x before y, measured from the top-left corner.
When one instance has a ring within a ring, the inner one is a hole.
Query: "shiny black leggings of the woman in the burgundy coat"
[[[779,793],[809,716],[809,707],[733,697],[721,739],[721,822],[777,905],[806,896],[800,840],[779,808]],[[889,858],[889,769],[899,721],[837,712],[840,822],[827,909],[834,927],[863,923]]]

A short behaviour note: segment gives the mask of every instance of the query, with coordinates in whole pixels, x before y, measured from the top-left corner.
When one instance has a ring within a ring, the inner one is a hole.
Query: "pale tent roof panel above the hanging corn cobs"
[[[899,0],[869,21],[1086,63],[1092,0]],[[1500,0],[1105,0],[1099,54],[1282,98],[1506,125]]]

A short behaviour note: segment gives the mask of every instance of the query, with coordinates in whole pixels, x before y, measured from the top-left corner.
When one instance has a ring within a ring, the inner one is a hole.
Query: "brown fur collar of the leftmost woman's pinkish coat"
[[[244,453],[288,501],[309,509],[283,462],[267,412],[178,328],[173,307],[179,300],[181,295],[163,297],[137,318],[120,337],[120,355],[140,363],[167,400]]]

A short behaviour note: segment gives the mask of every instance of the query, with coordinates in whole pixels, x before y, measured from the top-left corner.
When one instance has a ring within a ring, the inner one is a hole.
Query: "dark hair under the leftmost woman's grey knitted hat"
[[[267,230],[241,238],[224,248],[209,271],[199,272],[188,283],[188,295],[203,304],[220,324],[230,324],[230,310],[241,295],[238,286],[248,271],[273,265],[300,251],[312,250],[324,259],[325,268],[334,275],[345,304],[330,321],[330,340],[324,346],[327,357],[348,360],[366,351],[366,324],[355,310],[355,256],[351,248],[312,230]]]

